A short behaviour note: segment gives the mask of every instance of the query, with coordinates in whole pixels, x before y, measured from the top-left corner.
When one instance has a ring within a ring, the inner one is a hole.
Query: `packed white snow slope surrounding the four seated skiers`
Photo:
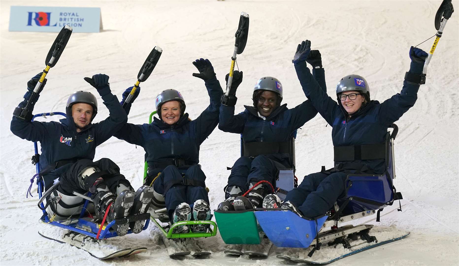
[[[306,100],[291,59],[297,44],[311,40],[319,49],[326,72],[327,92],[335,97],[339,79],[347,74],[366,78],[371,98],[380,102],[402,89],[409,70],[409,47],[436,33],[434,17],[441,1],[1,1],[0,86],[0,264],[1,265],[286,265],[273,249],[265,260],[228,257],[219,235],[203,239],[213,250],[207,260],[171,260],[159,231],[151,223],[146,232],[130,236],[149,251],[127,259],[98,261],[86,252],[39,237],[42,228],[34,198],[25,198],[32,142],[9,130],[12,112],[22,101],[27,81],[45,66],[56,33],[8,32],[10,6],[101,7],[100,33],[72,34],[35,106],[35,113],[64,111],[67,97],[91,91],[99,100],[95,122],[108,116],[96,90],[83,78],[105,73],[114,94],[134,85],[139,68],[155,45],[162,57],[150,78],[141,84],[129,122],[142,124],[154,109],[155,96],[176,89],[185,97],[187,112],[196,118],[209,103],[204,82],[192,77],[192,61],[208,58],[220,83],[228,73],[234,34],[241,11],[250,15],[245,51],[238,56],[244,80],[237,91],[236,111],[250,105],[252,88],[263,76],[281,80],[284,103],[293,108]],[[453,5],[459,8],[459,1]],[[381,223],[396,225],[411,235],[333,265],[457,265],[458,257],[458,82],[459,12],[448,21],[418,100],[397,121],[397,191],[403,192],[403,212],[386,208]],[[419,47],[428,51],[433,39]],[[50,119],[42,119],[50,121]],[[317,115],[298,130],[297,173],[303,176],[333,164],[331,127]],[[223,187],[239,157],[240,136],[214,130],[201,146],[200,163],[207,175],[212,209],[224,199]],[[111,138],[97,148],[95,159],[115,161],[133,187],[141,185],[144,151]],[[398,203],[397,203],[398,205]],[[392,211],[392,212],[391,212]],[[237,228],[235,228],[237,230]]]

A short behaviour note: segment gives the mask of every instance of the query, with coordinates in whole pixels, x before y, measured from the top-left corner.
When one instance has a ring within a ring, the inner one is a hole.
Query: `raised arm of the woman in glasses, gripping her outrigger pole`
[[[405,75],[402,91],[381,103],[379,116],[381,121],[386,122],[388,125],[397,121],[403,113],[413,107],[418,98],[417,93],[421,83],[420,76],[427,53],[411,46],[409,57],[411,58],[411,64],[409,72]]]

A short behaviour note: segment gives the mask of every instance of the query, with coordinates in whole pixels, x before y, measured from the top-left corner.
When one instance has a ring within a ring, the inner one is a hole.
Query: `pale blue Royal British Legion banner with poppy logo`
[[[59,32],[65,25],[73,32],[99,32],[101,8],[11,6],[10,31]]]

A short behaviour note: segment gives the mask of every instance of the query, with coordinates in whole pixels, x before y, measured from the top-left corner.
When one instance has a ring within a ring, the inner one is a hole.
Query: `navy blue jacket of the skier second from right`
[[[314,76],[322,88],[326,90],[324,69],[315,69]],[[292,109],[287,108],[287,104],[283,104],[275,108],[266,120],[258,116],[256,108],[246,105],[244,107],[246,108],[244,112],[234,115],[234,107],[222,105],[220,107],[220,123],[218,124],[220,130],[242,134],[244,143],[288,141],[295,130],[313,119],[317,114],[317,110],[309,100]],[[291,163],[288,154],[270,154],[268,157],[286,167],[291,167],[289,166]]]

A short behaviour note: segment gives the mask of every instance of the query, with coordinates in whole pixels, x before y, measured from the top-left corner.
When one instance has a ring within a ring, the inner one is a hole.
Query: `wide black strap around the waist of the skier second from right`
[[[289,153],[290,141],[252,141],[243,143],[243,156],[252,157],[275,153]]]

